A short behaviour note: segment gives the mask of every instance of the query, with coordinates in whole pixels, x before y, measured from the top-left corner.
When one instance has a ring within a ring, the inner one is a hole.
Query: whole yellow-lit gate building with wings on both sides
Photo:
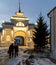
[[[15,16],[11,16],[10,20],[11,22],[2,23],[3,30],[0,33],[0,46],[8,47],[17,39],[19,48],[34,48],[32,41],[34,24],[29,24],[29,19],[24,16],[20,9]]]

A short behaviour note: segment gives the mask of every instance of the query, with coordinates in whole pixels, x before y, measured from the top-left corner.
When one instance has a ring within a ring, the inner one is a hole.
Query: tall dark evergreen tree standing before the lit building
[[[35,26],[33,41],[35,43],[35,48],[39,49],[39,51],[43,51],[46,47],[47,41],[47,24],[44,22],[44,18],[42,15],[39,16],[37,25]]]

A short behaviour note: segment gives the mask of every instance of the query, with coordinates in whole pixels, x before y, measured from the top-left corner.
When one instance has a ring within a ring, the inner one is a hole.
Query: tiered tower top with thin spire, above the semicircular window
[[[24,12],[21,11],[20,7],[20,0],[19,0],[19,10],[15,13],[14,16],[11,16],[11,22],[16,25],[17,23],[21,22],[24,26],[28,25],[29,19],[24,16]]]

